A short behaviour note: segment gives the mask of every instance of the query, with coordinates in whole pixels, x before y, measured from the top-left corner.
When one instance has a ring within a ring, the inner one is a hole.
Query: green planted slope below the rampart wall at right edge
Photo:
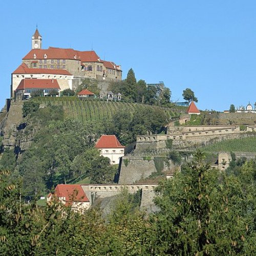
[[[223,140],[202,148],[203,151],[256,152],[256,137]]]

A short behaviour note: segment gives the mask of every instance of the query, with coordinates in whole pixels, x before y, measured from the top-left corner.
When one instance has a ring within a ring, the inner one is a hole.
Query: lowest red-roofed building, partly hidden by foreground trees
[[[65,206],[71,206],[75,210],[84,210],[90,207],[90,200],[82,189],[81,185],[77,184],[58,184],[55,187],[54,194],[50,193],[47,196],[47,202],[56,198]]]

